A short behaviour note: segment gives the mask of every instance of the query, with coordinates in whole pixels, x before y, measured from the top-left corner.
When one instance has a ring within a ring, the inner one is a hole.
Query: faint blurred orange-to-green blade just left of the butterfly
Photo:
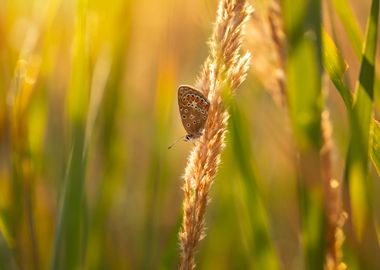
[[[171,104],[174,97],[172,90],[176,88],[174,79],[173,63],[163,61],[159,63],[160,68],[157,72],[157,86],[155,94],[155,113],[151,131],[155,134],[153,147],[151,149],[151,160],[149,164],[149,174],[146,186],[146,209],[145,209],[145,228],[142,234],[144,240],[144,257],[141,269],[151,269],[161,255],[161,247],[158,245],[157,231],[158,220],[165,200],[166,190],[168,189],[169,170],[167,160],[164,158],[167,149],[168,129]],[[178,232],[178,231],[177,231]],[[174,257],[173,257],[174,258]]]

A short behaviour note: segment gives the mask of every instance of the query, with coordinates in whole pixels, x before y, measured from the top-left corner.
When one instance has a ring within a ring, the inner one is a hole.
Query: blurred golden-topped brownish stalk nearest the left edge
[[[18,209],[12,218],[12,226],[13,229],[22,230],[23,224],[26,224],[25,234],[27,236],[23,233],[14,233],[14,237],[17,240],[26,240],[24,237],[28,238],[27,241],[30,243],[28,248],[24,246],[18,246],[17,248],[21,251],[20,254],[28,254],[31,267],[37,270],[40,269],[40,258],[33,207],[35,172],[28,141],[29,128],[25,119],[35,90],[39,61],[36,61],[31,55],[25,55],[24,57],[25,59],[20,54],[9,93],[13,198],[17,201],[14,205]]]

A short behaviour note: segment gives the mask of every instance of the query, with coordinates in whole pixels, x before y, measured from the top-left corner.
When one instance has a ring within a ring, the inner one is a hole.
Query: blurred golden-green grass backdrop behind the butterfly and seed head
[[[342,84],[353,92],[371,1],[300,0],[282,6],[288,14],[292,5],[310,2],[321,9],[324,28],[349,66]],[[268,1],[253,5],[255,16],[263,17]],[[190,0],[0,0],[0,269],[177,266],[180,177],[192,144],[180,143],[170,151],[167,146],[185,134],[177,86],[195,81],[208,53],[216,6],[217,1]],[[349,16],[346,6],[353,12]],[[305,32],[313,31],[319,20],[314,19],[285,19],[287,31],[300,35],[304,23]],[[277,106],[265,83],[273,70],[263,59],[271,52],[255,38],[257,23],[251,22],[246,32],[252,67],[231,104],[227,148],[197,265],[311,269],[303,237],[323,231],[313,223],[321,218],[322,203],[313,201],[314,184],[300,186],[299,179],[308,175],[299,176],[296,156],[308,155],[308,140],[318,147],[320,131],[308,127],[309,133],[303,133],[297,106],[313,111],[316,100],[297,103],[308,77],[295,76],[289,78],[289,110]],[[303,61],[316,68],[317,75],[306,75],[315,79],[315,95],[321,95],[317,105],[330,110],[333,175],[344,179],[349,134],[355,132],[349,102],[332,83],[322,101],[321,59],[308,58],[308,45],[297,52],[295,40],[288,42],[295,53],[287,71],[302,72]],[[376,40],[370,43],[376,47]],[[366,108],[379,108],[379,92],[375,83],[375,98]],[[312,124],[318,126],[320,111],[313,112]],[[366,160],[368,151],[360,158]],[[380,269],[380,182],[372,167],[365,178],[350,188],[359,194],[352,211],[366,217],[351,220],[350,200],[344,200],[350,218],[343,260],[350,269]],[[318,258],[319,251],[312,252]]]

